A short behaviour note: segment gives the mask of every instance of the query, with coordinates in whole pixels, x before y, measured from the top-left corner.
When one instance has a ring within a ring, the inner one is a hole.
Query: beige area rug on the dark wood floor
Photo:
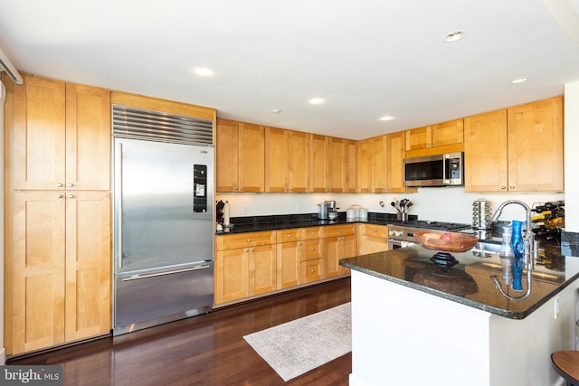
[[[243,336],[283,381],[352,351],[350,303]]]

